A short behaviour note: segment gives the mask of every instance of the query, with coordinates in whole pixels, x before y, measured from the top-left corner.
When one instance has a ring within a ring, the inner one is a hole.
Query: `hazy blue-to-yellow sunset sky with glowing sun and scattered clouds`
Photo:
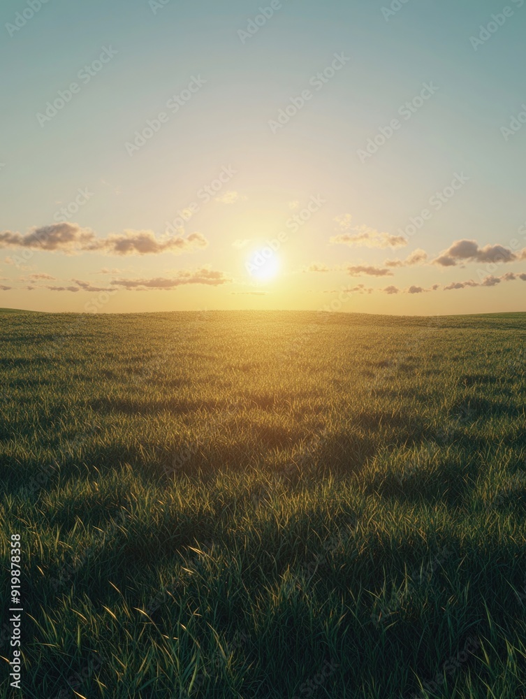
[[[524,311],[526,0],[0,7],[0,307]]]

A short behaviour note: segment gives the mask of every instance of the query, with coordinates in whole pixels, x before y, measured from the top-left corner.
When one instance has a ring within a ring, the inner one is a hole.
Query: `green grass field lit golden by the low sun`
[[[525,340],[0,313],[1,696],[526,696]]]

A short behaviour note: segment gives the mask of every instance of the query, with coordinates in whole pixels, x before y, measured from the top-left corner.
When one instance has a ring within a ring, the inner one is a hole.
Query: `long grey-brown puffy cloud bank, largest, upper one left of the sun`
[[[27,247],[30,250],[45,252],[98,252],[107,255],[145,255],[171,252],[181,254],[207,247],[206,238],[201,233],[191,233],[184,238],[164,236],[156,238],[153,231],[131,231],[111,233],[108,238],[97,238],[91,229],[80,228],[77,224],[60,223],[34,228],[29,233],[0,232],[0,247]]]

